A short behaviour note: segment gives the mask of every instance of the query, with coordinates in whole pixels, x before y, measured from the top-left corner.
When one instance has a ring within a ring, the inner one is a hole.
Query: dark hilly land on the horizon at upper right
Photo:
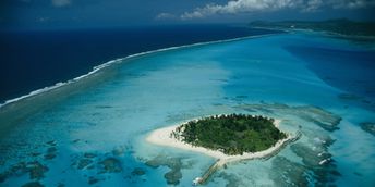
[[[282,21],[282,22],[266,22],[254,21],[249,24],[254,28],[268,29],[310,29],[314,32],[324,32],[326,34],[350,37],[358,39],[375,40],[375,22],[359,22],[348,18],[327,20],[319,22],[311,21]]]

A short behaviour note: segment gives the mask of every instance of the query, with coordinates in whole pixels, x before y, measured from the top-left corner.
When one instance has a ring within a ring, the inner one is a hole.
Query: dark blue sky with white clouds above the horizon
[[[43,29],[342,17],[375,21],[372,12],[375,0],[1,0],[0,27]]]

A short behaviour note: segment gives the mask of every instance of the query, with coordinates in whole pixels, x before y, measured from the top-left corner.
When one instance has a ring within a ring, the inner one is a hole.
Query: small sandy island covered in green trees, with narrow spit
[[[147,141],[201,152],[217,159],[194,180],[203,184],[228,162],[270,157],[297,136],[281,132],[279,120],[262,115],[220,114],[194,119],[152,132]]]

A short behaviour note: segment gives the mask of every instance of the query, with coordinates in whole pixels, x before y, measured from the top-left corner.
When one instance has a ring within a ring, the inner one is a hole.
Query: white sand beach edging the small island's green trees
[[[276,127],[279,127],[280,120],[275,120],[274,125]],[[173,148],[179,148],[179,149],[184,149],[189,151],[194,151],[194,152],[201,152],[206,155],[219,159],[223,163],[227,162],[232,162],[232,161],[239,161],[239,160],[251,160],[251,159],[259,159],[259,158],[265,158],[267,155],[270,155],[274,151],[277,151],[285,142],[288,140],[292,139],[293,137],[291,135],[287,134],[287,138],[279,140],[278,142],[275,144],[275,146],[259,152],[246,152],[243,153],[242,155],[227,155],[220,151],[214,151],[209,150],[203,147],[194,147],[192,145],[182,142],[172,136],[170,134],[180,125],[173,125],[173,126],[168,126],[164,128],[158,128],[154,132],[152,132],[146,140],[150,144],[154,145],[159,145],[159,146],[168,146],[168,147],[173,147]]]

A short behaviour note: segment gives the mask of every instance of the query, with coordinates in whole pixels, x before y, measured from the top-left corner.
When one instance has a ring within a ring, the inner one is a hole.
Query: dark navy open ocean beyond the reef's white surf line
[[[0,102],[161,48],[279,33],[227,25],[0,32]]]

